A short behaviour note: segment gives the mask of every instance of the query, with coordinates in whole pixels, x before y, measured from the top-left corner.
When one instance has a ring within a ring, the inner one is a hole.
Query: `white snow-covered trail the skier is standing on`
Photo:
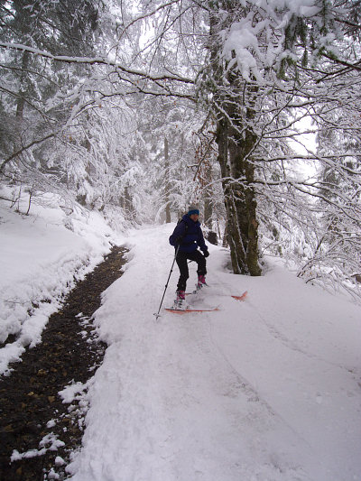
[[[227,251],[210,245],[203,303],[220,310],[156,321],[173,227],[131,234],[97,310],[109,347],[72,479],[361,480],[359,308],[277,265],[227,273]],[[175,267],[165,305],[177,278]],[[189,288],[195,278],[193,264]],[[245,290],[245,302],[229,296]]]

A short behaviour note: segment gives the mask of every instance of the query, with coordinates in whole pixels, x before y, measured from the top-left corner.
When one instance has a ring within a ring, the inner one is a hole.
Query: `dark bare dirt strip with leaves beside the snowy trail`
[[[101,293],[122,275],[125,252],[115,246],[69,292],[42,343],[27,349],[22,362],[11,366],[13,373],[0,379],[0,479],[66,477],[69,453],[80,446],[87,402],[64,403],[58,393],[69,384],[86,384],[102,362],[106,345],[97,339],[92,315]]]

